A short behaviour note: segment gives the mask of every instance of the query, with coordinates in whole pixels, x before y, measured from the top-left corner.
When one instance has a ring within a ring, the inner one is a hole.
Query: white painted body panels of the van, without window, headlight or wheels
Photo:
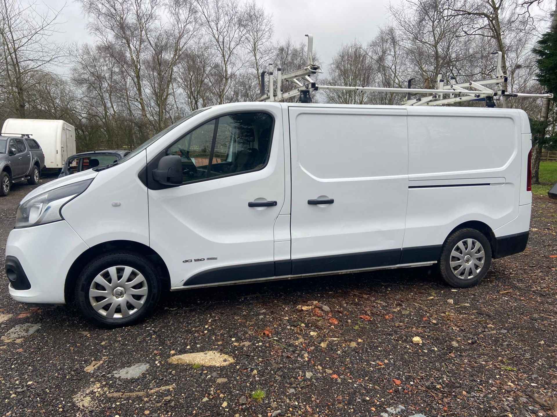
[[[218,116],[247,111],[275,121],[265,167],[158,190],[145,186],[146,164],[179,138]],[[527,116],[513,109],[208,108],[120,165],[48,182],[24,198],[94,177],[63,206],[64,220],[10,233],[6,255],[21,262],[31,289],[9,291],[19,301],[65,302],[77,257],[113,241],[150,247],[172,289],[245,282],[272,264],[272,276],[255,279],[431,265],[436,259],[419,259],[423,249],[440,247],[465,222],[482,222],[495,238],[529,230],[530,148]],[[314,199],[334,203],[308,203]],[[247,205],[265,200],[277,204]]]

